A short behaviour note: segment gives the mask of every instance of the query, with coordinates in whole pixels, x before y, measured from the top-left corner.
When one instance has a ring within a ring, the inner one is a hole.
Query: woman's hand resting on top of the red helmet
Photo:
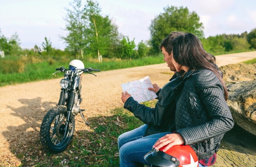
[[[167,145],[163,151],[167,151],[169,148],[173,147],[174,145],[183,145],[184,139],[180,134],[166,134],[162,138],[159,138],[157,142],[153,145],[153,148],[159,150],[160,148]]]

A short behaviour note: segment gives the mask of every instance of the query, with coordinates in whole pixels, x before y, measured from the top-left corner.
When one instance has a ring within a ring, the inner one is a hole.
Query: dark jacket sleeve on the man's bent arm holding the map
[[[159,126],[162,123],[163,117],[168,112],[175,112],[175,98],[173,89],[181,82],[181,79],[174,79],[168,82],[159,93],[159,100],[155,108],[146,107],[139,104],[132,97],[128,98],[124,104],[124,108],[131,111],[135,117],[150,126]]]

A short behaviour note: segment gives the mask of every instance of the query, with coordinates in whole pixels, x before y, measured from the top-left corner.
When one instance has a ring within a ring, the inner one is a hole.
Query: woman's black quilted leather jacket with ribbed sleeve
[[[234,126],[220,80],[209,70],[189,70],[174,94],[177,133],[199,160],[211,157],[225,132]]]

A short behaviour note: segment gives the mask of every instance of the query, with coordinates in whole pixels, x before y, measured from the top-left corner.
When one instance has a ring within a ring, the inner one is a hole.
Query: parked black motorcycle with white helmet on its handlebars
[[[74,134],[74,118],[77,114],[80,114],[86,125],[89,125],[82,113],[84,109],[79,108],[83,100],[81,98],[82,74],[89,73],[96,76],[92,71],[100,71],[91,67],[84,68],[83,62],[76,59],[69,65],[69,69],[64,67],[56,69],[55,73],[64,73],[64,78],[60,82],[60,99],[58,105],[44,116],[40,127],[40,140],[43,147],[54,153],[64,151],[69,145]]]

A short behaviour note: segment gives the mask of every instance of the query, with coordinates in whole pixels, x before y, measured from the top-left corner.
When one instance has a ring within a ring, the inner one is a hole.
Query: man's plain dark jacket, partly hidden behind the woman
[[[135,117],[148,125],[144,136],[151,134],[175,131],[175,98],[173,89],[182,82],[182,78],[173,75],[162,89],[157,92],[158,101],[155,108],[139,104],[132,97],[124,103],[124,108],[131,111]]]

